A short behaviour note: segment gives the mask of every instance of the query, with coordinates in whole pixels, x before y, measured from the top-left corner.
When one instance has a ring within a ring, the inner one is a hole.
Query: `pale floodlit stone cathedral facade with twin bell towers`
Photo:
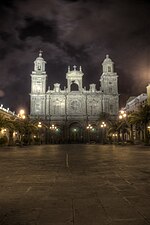
[[[46,88],[47,74],[46,61],[42,53],[34,61],[34,70],[31,73],[30,116],[39,118],[48,126],[55,124],[60,129],[67,127],[65,135],[70,138],[71,130],[80,130],[80,138],[83,131],[91,127],[97,130],[100,114],[109,113],[117,116],[119,110],[118,75],[114,72],[114,63],[106,55],[102,63],[102,75],[100,76],[100,88],[96,84],[90,84],[89,89],[83,88],[83,71],[81,66],[68,67],[66,73],[67,86],[60,88],[55,83],[53,89]]]

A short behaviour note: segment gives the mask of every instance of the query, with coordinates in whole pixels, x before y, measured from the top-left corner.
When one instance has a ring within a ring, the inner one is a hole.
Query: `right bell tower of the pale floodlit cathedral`
[[[103,73],[100,78],[104,112],[117,115],[119,110],[118,75],[114,72],[114,62],[106,55],[102,63]]]

